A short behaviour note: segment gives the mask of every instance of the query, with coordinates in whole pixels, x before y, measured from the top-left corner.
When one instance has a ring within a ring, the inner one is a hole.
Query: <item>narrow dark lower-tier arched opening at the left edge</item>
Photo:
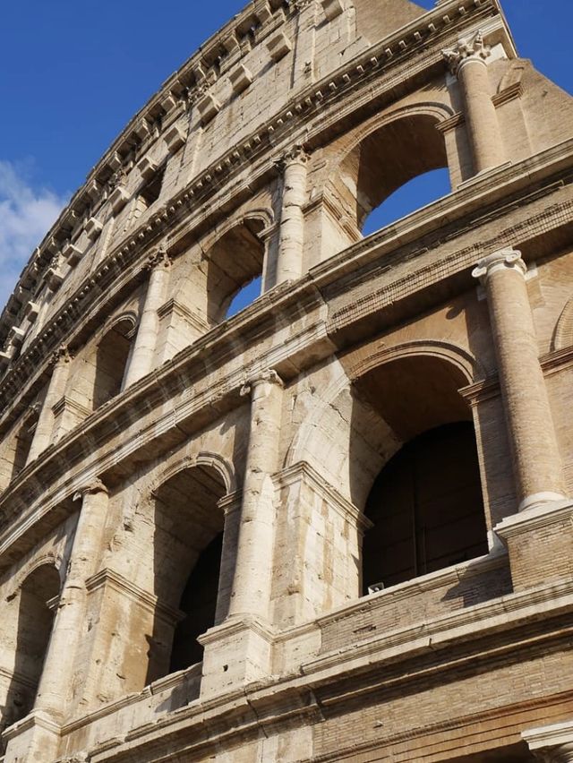
[[[3,728],[27,716],[34,706],[59,591],[60,576],[52,564],[43,564],[30,572],[21,585],[13,677],[4,707]]]

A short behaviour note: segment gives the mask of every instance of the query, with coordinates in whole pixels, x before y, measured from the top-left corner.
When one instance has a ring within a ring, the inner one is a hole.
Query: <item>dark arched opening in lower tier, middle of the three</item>
[[[177,472],[155,493],[154,593],[159,608],[178,616],[167,627],[156,620],[148,682],[201,662],[197,637],[225,616],[218,502],[226,493],[218,470],[206,465]]]

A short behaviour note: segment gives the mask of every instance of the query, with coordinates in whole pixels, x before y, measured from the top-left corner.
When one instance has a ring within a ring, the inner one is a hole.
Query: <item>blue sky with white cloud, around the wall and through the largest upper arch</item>
[[[419,2],[433,5],[433,0]],[[505,0],[503,5],[520,54],[571,92],[571,0]],[[5,3],[0,304],[33,247],[110,142],[169,74],[243,6],[244,0]],[[390,218],[435,196],[440,178],[437,182],[428,178],[392,201]]]

